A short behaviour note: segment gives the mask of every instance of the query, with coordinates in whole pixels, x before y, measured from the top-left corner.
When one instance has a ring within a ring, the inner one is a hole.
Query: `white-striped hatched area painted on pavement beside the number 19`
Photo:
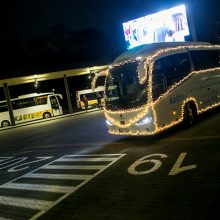
[[[65,155],[1,185],[0,220],[37,219],[124,155]]]

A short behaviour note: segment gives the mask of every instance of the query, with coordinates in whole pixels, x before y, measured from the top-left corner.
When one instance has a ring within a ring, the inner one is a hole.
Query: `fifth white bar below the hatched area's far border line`
[[[42,210],[44,208],[49,208],[53,204],[53,202],[10,196],[0,196],[0,204]]]

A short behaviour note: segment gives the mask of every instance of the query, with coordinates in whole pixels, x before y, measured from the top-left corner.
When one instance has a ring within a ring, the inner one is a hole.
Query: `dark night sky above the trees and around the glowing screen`
[[[63,24],[73,31],[95,27],[107,35],[121,28],[121,38],[122,22],[182,3],[190,3],[199,40],[206,40],[220,20],[219,0],[8,0],[1,4],[1,35],[28,39]]]

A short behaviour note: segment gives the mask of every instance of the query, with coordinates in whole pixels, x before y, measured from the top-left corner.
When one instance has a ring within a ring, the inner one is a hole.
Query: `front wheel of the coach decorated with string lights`
[[[194,102],[187,102],[184,106],[183,122],[187,127],[193,126],[196,123],[197,109]]]

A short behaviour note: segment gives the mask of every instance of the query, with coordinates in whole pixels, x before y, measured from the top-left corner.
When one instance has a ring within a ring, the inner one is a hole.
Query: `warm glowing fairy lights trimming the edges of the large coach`
[[[187,79],[189,79],[190,77],[192,77],[194,74],[208,74],[211,72],[220,72],[220,68],[210,68],[210,69],[206,69],[206,70],[199,70],[199,71],[192,71],[190,74],[188,74],[186,77],[184,77],[182,80],[180,80],[179,82],[173,84],[164,94],[161,94],[156,101],[153,101],[153,91],[152,91],[152,87],[153,87],[153,67],[154,67],[154,61],[159,58],[161,55],[165,56],[167,54],[170,54],[172,52],[178,52],[178,51],[186,51],[187,49],[220,49],[220,46],[216,46],[216,45],[192,45],[192,46],[177,46],[177,47],[171,47],[171,48],[165,48],[165,49],[160,49],[158,51],[156,51],[155,53],[153,53],[152,55],[146,57],[145,59],[143,59],[142,57],[137,57],[135,60],[134,59],[128,59],[122,62],[119,62],[117,64],[115,64],[114,66],[110,66],[109,69],[112,69],[114,67],[118,67],[118,66],[122,66],[131,62],[136,62],[138,61],[139,64],[141,62],[143,63],[143,70],[146,74],[141,74],[140,73],[140,69],[137,68],[137,75],[138,75],[138,80],[140,84],[143,84],[147,79],[148,79],[148,89],[147,89],[147,96],[148,96],[148,104],[136,107],[136,108],[131,108],[131,109],[125,109],[125,110],[116,110],[116,111],[112,111],[109,109],[106,109],[106,107],[104,107],[104,114],[106,119],[113,125],[116,126],[115,128],[129,128],[130,126],[134,125],[136,122],[138,122],[140,119],[142,119],[145,115],[149,114],[149,112],[153,113],[153,123],[154,123],[154,129],[152,131],[149,130],[135,130],[135,131],[130,131],[129,132],[119,132],[118,129],[110,129],[109,133],[111,134],[120,134],[120,135],[153,135],[156,134],[158,132],[161,132],[165,129],[168,129],[170,127],[173,127],[177,124],[179,124],[180,122],[182,122],[184,120],[184,109],[185,109],[185,105],[188,102],[193,102],[196,106],[196,110],[197,110],[197,114],[201,114],[205,111],[208,111],[214,107],[217,107],[220,105],[220,95],[218,94],[218,98],[219,98],[219,102],[214,103],[208,107],[202,108],[201,104],[202,102],[200,100],[196,100],[195,97],[186,97],[181,105],[180,108],[180,112],[179,112],[179,118],[177,118],[176,116],[176,112],[173,113],[173,115],[175,115],[174,120],[171,121],[169,124],[167,125],[163,125],[160,126],[158,124],[158,109],[160,108],[160,102],[161,100],[164,100],[165,98],[168,97],[168,95],[170,94],[171,91],[173,91],[176,87],[178,87],[179,85],[181,85],[184,81],[186,81]],[[138,65],[140,66],[140,65]],[[96,76],[94,77],[93,81],[92,81],[92,88],[95,88],[95,84],[96,84],[96,80],[99,76],[106,76],[109,77],[109,69],[100,72],[99,74],[96,74]],[[106,81],[105,80],[105,85],[104,87],[106,87]],[[199,105],[200,104],[200,105]],[[120,114],[127,114],[130,112],[134,112],[136,114],[134,114],[134,116],[129,119],[128,121],[126,121],[126,123],[122,124],[120,123],[120,120],[115,120],[114,119],[114,115],[120,115]]]

